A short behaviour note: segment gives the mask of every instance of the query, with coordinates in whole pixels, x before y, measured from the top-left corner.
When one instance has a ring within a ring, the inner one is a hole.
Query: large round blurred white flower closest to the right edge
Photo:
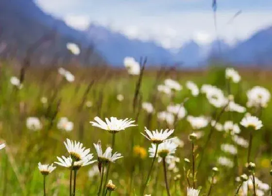
[[[271,94],[268,89],[256,86],[247,91],[247,98],[247,107],[267,107]]]

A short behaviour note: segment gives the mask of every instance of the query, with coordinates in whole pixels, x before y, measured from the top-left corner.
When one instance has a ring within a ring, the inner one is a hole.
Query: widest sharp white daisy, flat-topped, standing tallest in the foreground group
[[[107,130],[110,133],[117,133],[121,130],[125,130],[126,128],[130,126],[137,126],[133,124],[135,121],[132,121],[131,119],[128,119],[128,118],[123,120],[123,119],[117,119],[116,117],[110,117],[110,120],[108,118],[105,118],[106,122],[104,122],[101,120],[101,118],[95,117],[94,120],[96,122],[90,121],[90,123],[93,126]]]

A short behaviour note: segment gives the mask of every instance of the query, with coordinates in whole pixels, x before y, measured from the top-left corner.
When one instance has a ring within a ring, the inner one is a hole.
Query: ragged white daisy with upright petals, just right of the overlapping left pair
[[[122,158],[123,156],[121,156],[120,153],[115,152],[112,155],[112,148],[111,147],[107,147],[107,149],[105,150],[105,152],[102,152],[102,148],[101,148],[101,144],[100,143],[94,143],[94,147],[96,149],[97,152],[97,156],[98,156],[98,161],[102,162],[102,163],[109,163],[109,162],[115,162],[115,160],[118,160],[120,158]]]

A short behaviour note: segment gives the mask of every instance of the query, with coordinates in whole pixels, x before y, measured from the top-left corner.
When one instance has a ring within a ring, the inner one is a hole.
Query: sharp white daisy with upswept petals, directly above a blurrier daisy
[[[156,129],[155,131],[150,131],[145,127],[145,132],[147,135],[141,133],[144,137],[146,137],[148,140],[150,140],[152,143],[163,143],[166,140],[171,140],[171,139],[167,139],[173,132],[174,129],[166,129],[163,131],[163,129],[161,129],[160,131],[158,131],[158,129]]]

